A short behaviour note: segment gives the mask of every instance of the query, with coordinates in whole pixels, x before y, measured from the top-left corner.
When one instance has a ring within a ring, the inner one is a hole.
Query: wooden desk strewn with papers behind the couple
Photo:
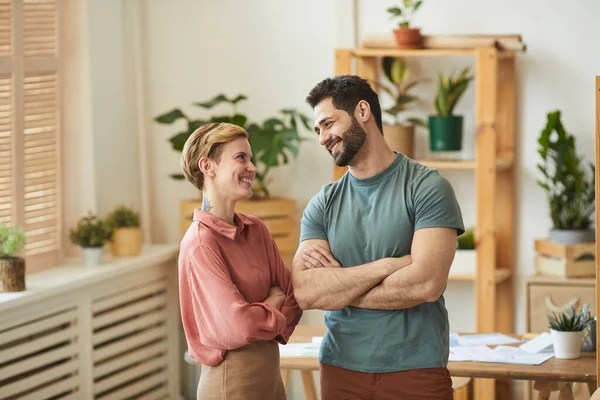
[[[310,342],[313,336],[323,336],[324,326],[297,326],[290,343]],[[307,400],[316,400],[316,389],[312,371],[319,370],[316,357],[282,357],[281,370],[284,383],[289,383],[291,370],[300,370]],[[491,379],[518,379],[535,381],[535,389],[540,391],[540,399],[548,399],[550,392],[560,391],[560,399],[572,399],[572,382],[588,384],[590,393],[596,390],[596,353],[582,352],[576,360],[551,358],[541,365],[520,365],[504,363],[449,362],[452,376]],[[570,396],[570,397],[569,397]]]

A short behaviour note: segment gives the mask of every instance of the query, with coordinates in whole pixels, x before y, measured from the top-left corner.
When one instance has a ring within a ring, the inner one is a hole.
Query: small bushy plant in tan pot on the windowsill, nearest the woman
[[[111,252],[116,257],[132,257],[142,249],[140,214],[124,205],[117,206],[106,216],[112,231]]]

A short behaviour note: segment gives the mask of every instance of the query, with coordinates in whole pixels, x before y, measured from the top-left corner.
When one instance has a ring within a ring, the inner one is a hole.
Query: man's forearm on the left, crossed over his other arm
[[[401,267],[383,258],[350,268],[311,268],[295,272],[294,295],[303,309],[340,310]]]

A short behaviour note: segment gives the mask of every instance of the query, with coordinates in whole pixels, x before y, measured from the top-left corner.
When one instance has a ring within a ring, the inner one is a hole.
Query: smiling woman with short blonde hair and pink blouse
[[[256,174],[248,134],[227,123],[201,126],[181,164],[203,195],[179,255],[188,353],[202,365],[197,398],[285,399],[277,343],[287,342],[302,311],[267,227],[234,212]]]

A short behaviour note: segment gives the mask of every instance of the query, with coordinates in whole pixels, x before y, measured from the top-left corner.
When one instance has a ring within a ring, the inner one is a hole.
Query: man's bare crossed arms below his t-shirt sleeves
[[[303,309],[397,310],[437,300],[456,251],[456,229],[415,232],[411,255],[340,268],[325,240],[303,241],[292,263],[296,301]]]

